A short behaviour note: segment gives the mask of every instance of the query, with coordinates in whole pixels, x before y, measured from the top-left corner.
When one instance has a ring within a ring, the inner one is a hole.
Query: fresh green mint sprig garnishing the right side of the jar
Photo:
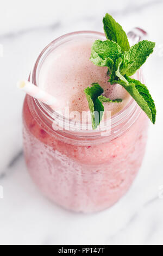
[[[154,124],[156,109],[152,96],[145,84],[130,76],[134,75],[146,62],[148,56],[153,52],[155,43],[143,40],[130,47],[126,33],[111,15],[106,14],[103,23],[108,40],[96,40],[93,43],[90,57],[92,63],[98,66],[107,66],[109,82],[121,84]],[[121,101],[105,100],[103,95],[98,95],[97,99],[102,102]],[[99,119],[100,121],[101,119]]]

